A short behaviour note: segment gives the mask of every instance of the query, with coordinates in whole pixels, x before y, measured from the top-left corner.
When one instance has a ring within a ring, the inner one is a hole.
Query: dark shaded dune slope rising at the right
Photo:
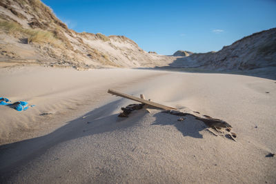
[[[179,53],[184,52],[175,52],[177,55]],[[194,53],[190,57],[177,59],[170,66],[209,70],[276,67],[276,28],[244,37],[232,45],[224,46],[218,52]]]

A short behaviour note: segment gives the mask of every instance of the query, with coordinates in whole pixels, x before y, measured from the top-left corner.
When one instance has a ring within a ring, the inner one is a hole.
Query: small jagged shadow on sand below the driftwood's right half
[[[152,123],[152,125],[174,125],[177,130],[183,134],[183,136],[191,136],[202,139],[203,136],[200,134],[200,131],[206,129],[207,127],[202,121],[196,120],[190,115],[185,116],[184,121],[177,121],[180,117],[161,112],[155,114],[154,116],[156,120]]]

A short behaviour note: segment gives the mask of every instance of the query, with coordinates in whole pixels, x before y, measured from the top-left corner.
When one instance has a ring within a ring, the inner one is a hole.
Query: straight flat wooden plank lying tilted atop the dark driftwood
[[[159,103],[155,103],[153,101],[147,101],[145,99],[139,99],[138,97],[135,97],[135,96],[131,96],[129,94],[124,94],[122,92],[117,92],[115,90],[108,90],[108,93],[110,94],[114,94],[114,95],[117,95],[117,96],[121,96],[121,97],[124,97],[126,99],[130,99],[132,101],[139,101],[141,103],[145,103],[145,104],[148,104],[152,107],[155,107],[155,108],[160,108],[160,109],[163,109],[163,110],[177,110],[176,108],[172,108],[172,107],[168,107],[166,105],[161,105]]]

